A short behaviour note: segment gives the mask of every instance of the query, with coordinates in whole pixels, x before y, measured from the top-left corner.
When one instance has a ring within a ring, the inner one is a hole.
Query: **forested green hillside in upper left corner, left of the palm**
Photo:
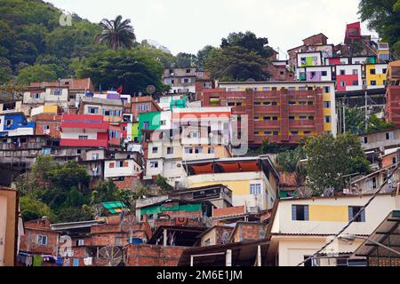
[[[72,75],[68,67],[71,59],[101,50],[94,41],[100,32],[99,25],[74,14],[72,26],[60,26],[61,11],[52,4],[38,0],[0,0],[0,15],[0,58],[10,62],[6,75],[0,71],[0,83],[12,80],[15,75],[23,83]],[[39,60],[46,56],[58,60]],[[0,60],[0,65],[3,63]]]

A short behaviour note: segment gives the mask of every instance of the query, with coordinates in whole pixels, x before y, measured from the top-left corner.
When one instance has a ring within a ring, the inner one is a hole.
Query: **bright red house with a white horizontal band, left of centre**
[[[108,128],[102,115],[63,114],[60,146],[107,148]]]

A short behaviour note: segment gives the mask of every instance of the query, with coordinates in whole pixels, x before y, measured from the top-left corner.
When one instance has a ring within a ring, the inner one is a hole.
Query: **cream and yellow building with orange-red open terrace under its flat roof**
[[[225,185],[232,191],[233,206],[260,211],[276,201],[279,174],[268,156],[196,160],[183,166],[187,187]]]

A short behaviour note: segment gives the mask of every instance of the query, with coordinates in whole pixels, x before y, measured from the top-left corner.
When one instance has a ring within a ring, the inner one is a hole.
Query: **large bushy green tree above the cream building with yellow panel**
[[[315,193],[323,193],[325,189],[339,192],[346,185],[346,176],[369,170],[359,138],[349,133],[337,138],[329,133],[307,138],[304,149],[308,158],[308,185]]]

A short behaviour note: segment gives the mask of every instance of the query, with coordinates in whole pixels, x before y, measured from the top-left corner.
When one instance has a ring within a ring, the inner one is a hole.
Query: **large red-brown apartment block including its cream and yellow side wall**
[[[265,139],[295,144],[324,131],[336,135],[333,82],[220,83],[219,87],[204,91],[204,106],[232,106],[232,114],[247,114],[247,124],[237,124],[247,130],[250,145]]]

